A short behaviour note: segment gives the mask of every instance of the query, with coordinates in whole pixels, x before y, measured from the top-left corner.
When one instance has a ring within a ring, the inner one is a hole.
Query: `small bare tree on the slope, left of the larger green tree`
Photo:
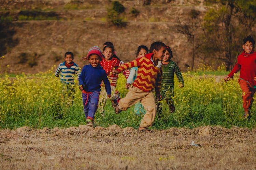
[[[189,12],[189,23],[188,22],[182,22],[180,19],[178,19],[178,28],[177,30],[184,34],[188,40],[188,42],[191,44],[190,48],[192,50],[192,61],[191,61],[191,69],[194,69],[195,64],[195,58],[197,49],[202,45],[202,41],[200,40],[200,31],[201,29],[201,23],[198,19],[200,12],[193,9]]]

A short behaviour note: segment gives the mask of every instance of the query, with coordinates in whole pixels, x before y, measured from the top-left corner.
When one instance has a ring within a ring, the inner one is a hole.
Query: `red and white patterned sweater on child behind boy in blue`
[[[117,69],[120,66],[120,61],[112,57],[110,61],[106,61],[104,58],[100,62],[101,67],[106,71],[111,86],[116,87],[116,81],[118,79],[117,74],[112,74],[113,69]]]

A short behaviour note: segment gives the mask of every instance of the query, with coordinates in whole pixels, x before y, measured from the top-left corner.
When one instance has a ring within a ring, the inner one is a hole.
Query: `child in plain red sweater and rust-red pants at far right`
[[[237,63],[232,71],[224,78],[229,81],[234,73],[240,70],[238,83],[242,89],[244,119],[250,119],[253,96],[256,91],[256,52],[254,51],[255,41],[252,36],[243,39],[242,48],[244,51],[238,56]]]

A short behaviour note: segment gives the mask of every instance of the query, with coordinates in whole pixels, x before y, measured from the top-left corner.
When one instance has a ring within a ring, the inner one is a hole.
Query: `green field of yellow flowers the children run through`
[[[1,75],[1,129],[16,129],[21,126],[35,129],[56,126],[68,128],[86,124],[78,82],[75,82],[73,104],[69,106],[68,92],[63,92],[60,80],[54,77],[54,69],[29,76]],[[186,72],[183,73],[184,88],[179,88],[175,77],[173,100],[176,111],[170,114],[166,103],[163,103],[164,113],[161,119],[156,117],[153,128],[193,128],[202,125],[222,125],[227,128],[238,126],[250,129],[255,127],[255,104],[252,106],[251,120],[242,119],[243,108],[241,89],[237,82],[238,75],[229,82],[224,82],[221,80],[224,75],[199,75],[197,72]],[[124,86],[125,78],[120,74],[117,89],[121,92],[121,97],[127,93]],[[121,128],[130,126],[137,129],[141,118],[133,113],[133,106],[116,115],[111,102],[108,101],[104,114],[96,112],[95,124],[103,127],[117,124]]]

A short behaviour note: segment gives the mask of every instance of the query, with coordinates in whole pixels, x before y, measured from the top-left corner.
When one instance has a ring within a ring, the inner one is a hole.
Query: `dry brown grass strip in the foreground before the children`
[[[191,146],[191,142],[197,146]],[[151,134],[95,129],[0,131],[0,169],[255,169],[256,129],[204,126]]]

